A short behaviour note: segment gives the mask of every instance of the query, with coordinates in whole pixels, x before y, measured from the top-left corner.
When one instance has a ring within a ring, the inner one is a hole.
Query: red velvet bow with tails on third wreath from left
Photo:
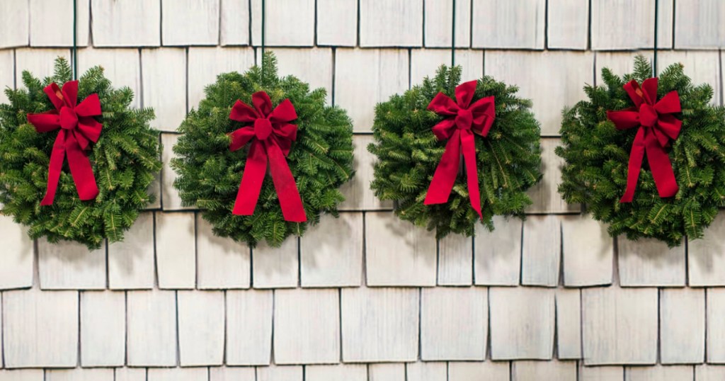
[[[471,99],[476,93],[476,81],[461,83],[455,88],[456,104],[443,93],[438,93],[428,105],[428,110],[447,116],[433,127],[433,134],[438,140],[448,139],[441,162],[433,175],[425,205],[443,204],[453,189],[460,165],[460,150],[463,146],[463,160],[468,176],[468,197],[476,213],[481,215],[481,194],[479,191],[479,170],[476,165],[476,144],[474,133],[481,136],[489,134],[494,123],[494,97],[481,98],[473,105]]]

